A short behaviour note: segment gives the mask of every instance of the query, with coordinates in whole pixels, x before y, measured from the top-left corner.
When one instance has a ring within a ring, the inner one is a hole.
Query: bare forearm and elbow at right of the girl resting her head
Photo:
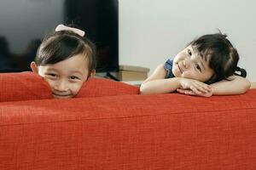
[[[229,79],[212,83],[212,95],[244,94],[251,87],[251,82],[244,77],[232,76]]]

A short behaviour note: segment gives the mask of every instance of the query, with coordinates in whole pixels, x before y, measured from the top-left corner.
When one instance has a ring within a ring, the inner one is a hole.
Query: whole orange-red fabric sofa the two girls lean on
[[[1,170],[256,169],[256,89],[138,95],[92,79],[78,98],[51,99],[40,77],[17,74],[0,75]]]

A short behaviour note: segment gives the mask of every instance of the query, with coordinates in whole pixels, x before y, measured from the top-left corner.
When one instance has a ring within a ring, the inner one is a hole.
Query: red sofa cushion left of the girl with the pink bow
[[[53,98],[47,82],[30,71],[0,74],[0,101]]]

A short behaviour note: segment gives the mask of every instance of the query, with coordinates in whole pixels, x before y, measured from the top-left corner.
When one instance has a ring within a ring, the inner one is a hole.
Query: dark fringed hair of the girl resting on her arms
[[[218,82],[234,74],[247,76],[246,71],[237,66],[239,54],[226,35],[220,32],[204,35],[190,42],[189,45],[195,48],[203,59],[208,60],[210,68],[214,71],[213,76],[206,83]],[[241,74],[235,71],[240,71]]]

